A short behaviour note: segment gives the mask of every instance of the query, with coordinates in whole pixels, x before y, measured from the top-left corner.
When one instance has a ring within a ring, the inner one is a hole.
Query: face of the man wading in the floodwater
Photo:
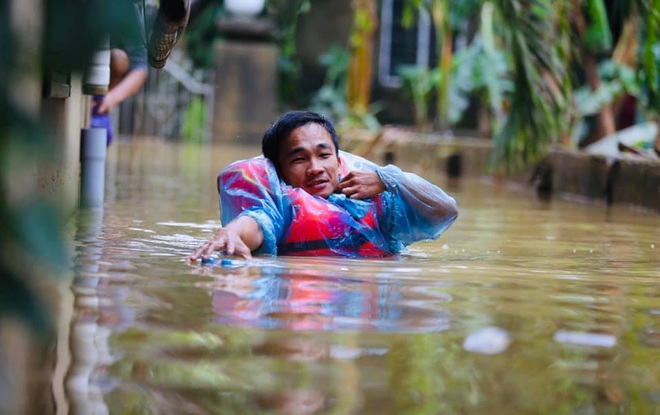
[[[288,185],[328,198],[339,183],[339,159],[332,136],[319,124],[291,132],[280,147],[280,174]]]

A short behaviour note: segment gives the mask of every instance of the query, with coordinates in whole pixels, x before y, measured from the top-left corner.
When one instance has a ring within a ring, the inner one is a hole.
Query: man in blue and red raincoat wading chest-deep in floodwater
[[[338,141],[326,117],[285,113],[263,136],[264,157],[220,173],[224,226],[189,259],[390,256],[438,238],[456,219],[456,202],[439,187],[340,151]]]

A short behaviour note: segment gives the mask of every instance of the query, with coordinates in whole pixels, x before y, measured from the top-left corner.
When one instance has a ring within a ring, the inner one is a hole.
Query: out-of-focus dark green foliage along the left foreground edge
[[[56,140],[35,108],[26,108],[25,82],[41,84],[52,71],[80,73],[91,53],[130,16],[132,0],[43,2],[41,48],[21,49],[33,30],[18,30],[11,2],[0,4],[0,311],[47,335],[52,315],[36,287],[70,264],[65,213],[42,190],[39,174],[52,161]],[[16,6],[16,4],[13,4]]]

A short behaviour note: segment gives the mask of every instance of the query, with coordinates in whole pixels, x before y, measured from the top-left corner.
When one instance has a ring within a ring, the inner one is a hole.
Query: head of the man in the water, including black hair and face
[[[286,184],[324,198],[337,188],[339,138],[326,117],[289,111],[266,130],[261,147]]]

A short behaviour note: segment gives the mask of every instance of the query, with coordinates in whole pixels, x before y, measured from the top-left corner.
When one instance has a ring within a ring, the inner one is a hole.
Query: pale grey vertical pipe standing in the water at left
[[[108,131],[83,128],[80,134],[80,206],[103,207]]]

